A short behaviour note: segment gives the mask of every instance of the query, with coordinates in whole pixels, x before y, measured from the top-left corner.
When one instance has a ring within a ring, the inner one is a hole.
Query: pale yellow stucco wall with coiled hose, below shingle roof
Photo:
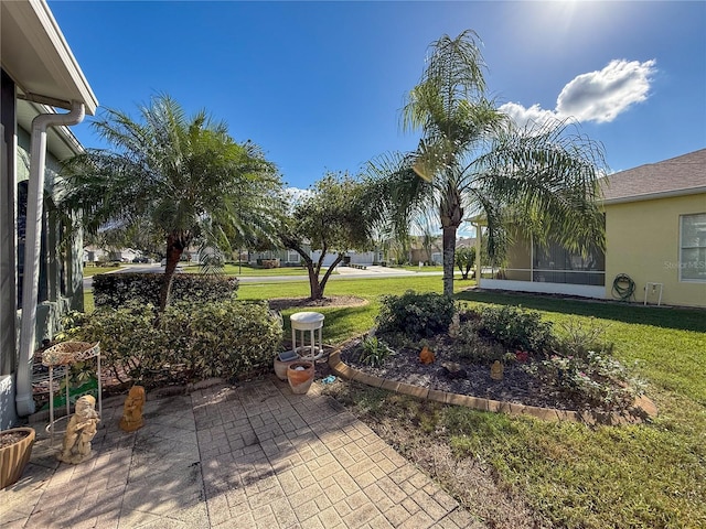
[[[680,215],[706,213],[706,194],[606,205],[606,296],[616,276],[635,282],[643,302],[645,283],[663,283],[662,303],[706,306],[706,282],[680,281]],[[656,303],[648,293],[648,303]]]

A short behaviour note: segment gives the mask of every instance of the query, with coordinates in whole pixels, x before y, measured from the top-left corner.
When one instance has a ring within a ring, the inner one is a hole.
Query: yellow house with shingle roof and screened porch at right
[[[518,237],[506,267],[480,287],[614,299],[632,281],[631,301],[706,306],[706,149],[612,174],[601,185],[605,253],[578,256]]]

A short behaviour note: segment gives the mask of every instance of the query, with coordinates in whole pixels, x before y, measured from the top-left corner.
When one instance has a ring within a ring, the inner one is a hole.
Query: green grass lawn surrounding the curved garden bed
[[[587,427],[421,402],[347,382],[327,391],[490,527],[706,527],[705,311],[466,291],[470,284],[454,283],[463,304],[520,304],[556,323],[606,324],[616,357],[648,382],[659,417],[641,425]],[[317,309],[327,317],[324,342],[367,331],[381,293],[409,289],[440,292],[441,281],[331,281],[327,295],[368,303]],[[238,292],[244,300],[306,295],[306,281],[243,283]]]

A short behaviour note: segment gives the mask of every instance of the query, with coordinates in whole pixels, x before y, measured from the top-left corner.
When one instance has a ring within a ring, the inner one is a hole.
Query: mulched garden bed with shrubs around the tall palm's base
[[[596,322],[554,328],[521,307],[460,310],[449,298],[411,291],[382,305],[378,327],[340,352],[377,379],[629,422],[653,411],[637,401],[643,384],[612,357]]]

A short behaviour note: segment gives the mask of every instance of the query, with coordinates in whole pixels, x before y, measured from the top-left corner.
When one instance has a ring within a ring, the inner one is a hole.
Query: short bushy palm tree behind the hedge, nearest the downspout
[[[62,203],[79,210],[92,233],[140,225],[159,234],[167,257],[163,311],[190,244],[227,249],[233,234],[272,237],[281,183],[257,145],[236,143],[204,110],[186,117],[160,95],[140,108],[140,118],[107,110],[94,121],[114,150],[92,149],[66,164]]]

